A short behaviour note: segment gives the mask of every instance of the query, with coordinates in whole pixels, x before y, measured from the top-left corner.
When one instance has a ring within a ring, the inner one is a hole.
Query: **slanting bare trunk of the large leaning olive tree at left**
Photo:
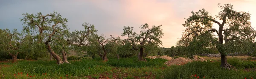
[[[52,57],[54,57],[56,60],[57,60],[57,64],[62,64],[64,63],[62,60],[61,60],[61,57],[59,57],[53,50],[52,50],[52,47],[48,44],[48,43],[45,43],[47,49],[48,49],[48,52],[50,54],[52,54]]]

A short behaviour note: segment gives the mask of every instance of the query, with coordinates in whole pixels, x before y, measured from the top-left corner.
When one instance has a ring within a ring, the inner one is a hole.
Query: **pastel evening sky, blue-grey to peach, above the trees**
[[[256,0],[0,0],[0,29],[21,31],[23,13],[57,11],[68,19],[70,31],[83,30],[82,24],[87,22],[107,38],[121,36],[123,26],[134,27],[139,33],[145,23],[150,27],[162,25],[161,47],[171,47],[181,38],[184,18],[191,16],[191,11],[204,8],[215,16],[220,11],[218,3],[231,3],[234,10],[249,12],[251,25],[256,27]]]

